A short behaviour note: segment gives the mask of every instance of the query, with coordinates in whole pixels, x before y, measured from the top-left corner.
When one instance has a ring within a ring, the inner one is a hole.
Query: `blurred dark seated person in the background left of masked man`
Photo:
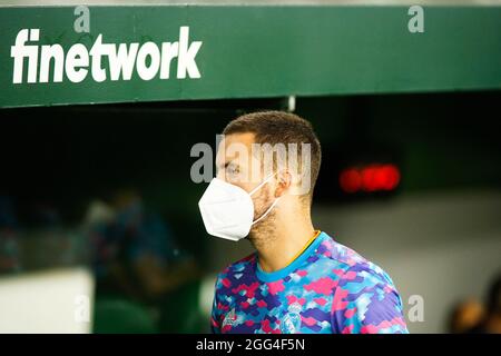
[[[120,189],[109,205],[92,202],[86,220],[99,290],[155,303],[198,277],[190,256],[177,248],[169,226],[146,208],[139,191]]]

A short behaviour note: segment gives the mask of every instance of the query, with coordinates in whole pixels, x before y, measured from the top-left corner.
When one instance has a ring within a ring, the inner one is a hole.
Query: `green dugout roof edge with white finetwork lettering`
[[[0,107],[501,89],[501,1],[79,2],[0,0]]]

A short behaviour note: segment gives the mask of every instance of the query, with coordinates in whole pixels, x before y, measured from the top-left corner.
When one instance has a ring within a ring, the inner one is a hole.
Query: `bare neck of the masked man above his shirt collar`
[[[258,234],[271,234],[273,236],[261,236],[262,244],[255,244],[259,266],[264,271],[271,273],[289,265],[293,258],[315,236],[310,216],[304,220],[284,224],[277,219],[273,230]]]

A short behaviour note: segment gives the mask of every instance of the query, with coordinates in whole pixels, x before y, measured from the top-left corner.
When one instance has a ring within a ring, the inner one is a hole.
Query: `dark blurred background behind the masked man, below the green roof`
[[[500,93],[295,98],[315,226],[392,276],[411,333],[499,315]],[[252,246],[206,234],[190,149],[263,109],[291,100],[0,110],[1,332],[208,332],[215,274]]]

